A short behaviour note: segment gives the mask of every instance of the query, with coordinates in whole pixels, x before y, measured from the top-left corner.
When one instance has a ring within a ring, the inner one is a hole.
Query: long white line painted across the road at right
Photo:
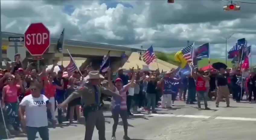
[[[199,118],[199,119],[227,119],[227,120],[241,120],[241,121],[256,121],[256,118],[242,118],[242,117],[220,117],[213,118],[212,116],[203,115],[174,115],[174,114],[134,114],[134,116],[158,116],[158,117],[178,117],[178,118]]]

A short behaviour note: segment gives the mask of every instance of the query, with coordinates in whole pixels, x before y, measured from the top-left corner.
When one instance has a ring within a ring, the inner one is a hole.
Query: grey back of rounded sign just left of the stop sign
[[[14,61],[14,56],[16,53],[19,53],[21,55],[21,61],[23,61],[26,58],[26,48],[19,42],[12,42],[7,48],[6,56],[11,61]]]

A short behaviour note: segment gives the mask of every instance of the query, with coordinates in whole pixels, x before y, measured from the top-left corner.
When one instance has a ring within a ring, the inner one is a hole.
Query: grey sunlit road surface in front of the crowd
[[[203,102],[202,102],[203,103]],[[197,109],[197,105],[186,105],[177,101],[172,109],[158,108],[157,114],[148,115],[142,111],[129,118],[128,135],[132,140],[252,140],[255,139],[256,111],[254,103],[235,103],[230,108],[221,102],[219,108],[209,101],[212,110]],[[203,104],[202,104],[203,107]],[[106,111],[106,139],[111,140],[113,119]],[[83,140],[85,126],[68,122],[55,129],[50,128],[50,140]],[[39,135],[38,135],[39,136]],[[116,132],[117,140],[123,138],[121,119]],[[37,138],[40,139],[40,138]],[[93,140],[98,139],[95,128]],[[16,137],[11,140],[26,140]]]

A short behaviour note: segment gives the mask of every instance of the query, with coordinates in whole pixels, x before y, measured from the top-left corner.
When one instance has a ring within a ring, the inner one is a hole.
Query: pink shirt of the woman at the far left
[[[8,103],[17,102],[19,88],[20,88],[20,85],[4,86],[3,89],[5,90],[5,102],[8,102]]]

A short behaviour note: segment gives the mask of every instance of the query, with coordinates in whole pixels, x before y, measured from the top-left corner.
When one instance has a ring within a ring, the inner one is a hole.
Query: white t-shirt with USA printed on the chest
[[[20,105],[25,106],[26,126],[43,127],[48,126],[46,103],[49,99],[43,94],[39,98],[33,97],[31,94],[25,96]]]

